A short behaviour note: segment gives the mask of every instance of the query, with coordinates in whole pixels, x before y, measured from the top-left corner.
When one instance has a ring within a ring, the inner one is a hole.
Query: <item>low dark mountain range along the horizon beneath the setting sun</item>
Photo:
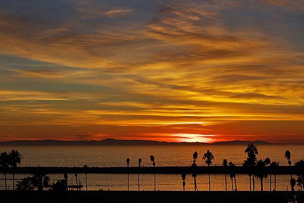
[[[0,145],[4,146],[26,146],[26,145],[246,145],[253,142],[256,145],[273,144],[270,142],[255,140],[255,141],[220,141],[213,143],[205,142],[160,142],[153,140],[116,140],[116,139],[104,139],[104,140],[80,140],[80,141],[65,141],[65,140],[14,140],[8,142],[0,142]]]

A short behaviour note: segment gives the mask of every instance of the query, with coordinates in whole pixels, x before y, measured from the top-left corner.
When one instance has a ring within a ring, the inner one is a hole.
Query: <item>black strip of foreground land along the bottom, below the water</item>
[[[1,202],[12,203],[52,203],[52,202],[136,202],[136,203],[287,203],[304,202],[300,191],[0,191]],[[295,196],[296,199],[293,199]]]

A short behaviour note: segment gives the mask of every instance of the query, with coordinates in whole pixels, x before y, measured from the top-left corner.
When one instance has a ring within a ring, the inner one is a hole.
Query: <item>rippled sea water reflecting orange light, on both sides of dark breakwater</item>
[[[149,155],[155,156],[157,166],[189,166],[192,162],[194,151],[199,153],[198,164],[203,166],[203,153],[209,148],[215,159],[213,165],[221,165],[226,158],[236,165],[242,165],[246,154],[243,145],[212,145],[212,146],[0,146],[0,151],[16,148],[23,155],[21,166],[68,166],[78,167],[88,165],[89,167],[123,167],[126,166],[126,158],[130,158],[130,166],[138,166],[138,158],[142,158],[142,166],[151,166]],[[258,146],[258,159],[270,157],[272,161],[279,161],[280,165],[287,165],[284,157],[286,150],[291,152],[292,164],[304,158],[304,145],[260,145]],[[17,174],[16,178],[23,178],[26,174]],[[63,179],[61,174],[50,174],[55,182]],[[0,189],[3,188],[3,175],[0,174]],[[11,178],[11,175],[8,175]],[[85,185],[84,174],[78,178]],[[296,178],[296,177],[295,177]],[[53,182],[52,180],[52,182]],[[208,175],[199,175],[199,190],[208,190]],[[227,177],[228,189],[231,190],[231,182]],[[69,174],[69,183],[75,182],[73,174]],[[274,178],[272,178],[272,182]],[[9,181],[10,183],[11,181]],[[249,190],[249,178],[247,175],[237,175],[238,190]],[[259,190],[259,180],[255,180],[256,190]],[[270,177],[263,180],[264,190],[270,189]],[[182,181],[180,175],[157,175],[157,189],[181,190]],[[124,190],[127,188],[127,175],[124,174],[88,174],[89,189]],[[154,175],[140,175],[141,189],[154,189]],[[272,187],[274,184],[272,185]],[[289,188],[289,176],[277,176],[277,190]],[[193,190],[193,178],[190,174],[186,177],[186,189]],[[137,175],[130,175],[130,189],[137,190]],[[211,189],[224,190],[224,175],[211,175]]]

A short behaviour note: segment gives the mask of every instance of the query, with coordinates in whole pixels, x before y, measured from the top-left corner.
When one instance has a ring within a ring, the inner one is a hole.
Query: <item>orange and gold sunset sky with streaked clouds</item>
[[[302,0],[2,0],[0,141],[304,143]]]

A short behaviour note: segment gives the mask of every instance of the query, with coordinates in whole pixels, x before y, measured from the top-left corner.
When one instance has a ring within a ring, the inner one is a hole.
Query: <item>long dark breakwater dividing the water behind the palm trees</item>
[[[43,171],[45,173],[95,173],[95,174],[254,174],[257,172],[255,167],[223,167],[223,166],[210,166],[210,167],[17,167],[15,173],[20,174],[34,174]],[[267,174],[303,174],[303,169],[294,166],[280,166],[275,170],[270,167],[265,167]],[[0,173],[2,173],[0,169]],[[8,168],[7,173],[12,173],[13,168]]]

